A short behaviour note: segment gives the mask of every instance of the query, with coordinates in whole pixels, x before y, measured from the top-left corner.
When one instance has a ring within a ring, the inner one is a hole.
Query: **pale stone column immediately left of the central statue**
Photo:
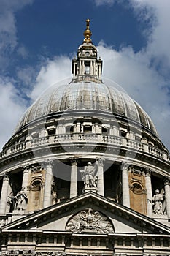
[[[77,196],[77,160],[71,159],[70,198]]]

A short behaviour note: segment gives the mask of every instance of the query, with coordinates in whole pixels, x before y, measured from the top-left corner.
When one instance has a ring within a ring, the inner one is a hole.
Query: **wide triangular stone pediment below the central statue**
[[[63,201],[1,227],[1,230],[170,233],[170,228],[94,192]]]

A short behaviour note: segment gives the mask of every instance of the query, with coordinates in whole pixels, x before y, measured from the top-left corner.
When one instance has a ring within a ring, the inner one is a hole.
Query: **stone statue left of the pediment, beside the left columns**
[[[14,208],[16,210],[26,210],[26,205],[28,203],[28,197],[26,195],[26,188],[22,187],[22,189],[13,197],[14,200]]]

